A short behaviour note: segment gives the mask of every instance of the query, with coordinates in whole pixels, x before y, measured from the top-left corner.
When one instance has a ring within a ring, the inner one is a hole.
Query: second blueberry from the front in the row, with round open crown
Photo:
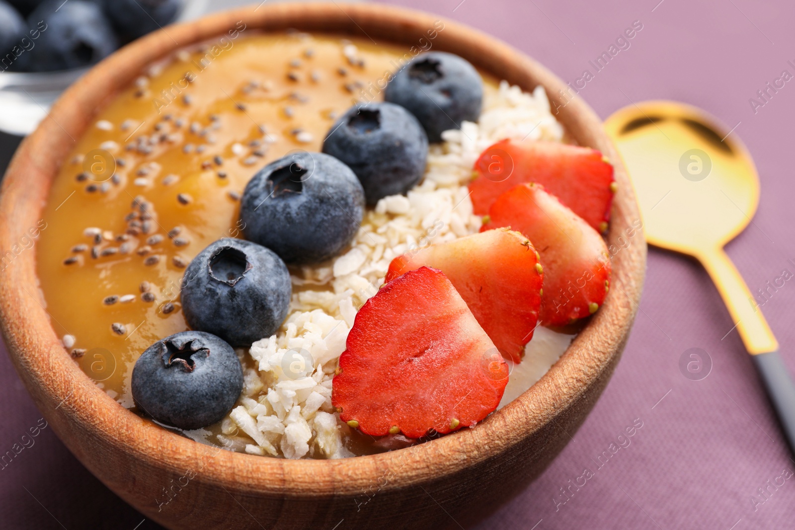
[[[292,293],[287,265],[275,253],[223,238],[193,258],[180,296],[188,326],[232,346],[251,346],[279,329]]]

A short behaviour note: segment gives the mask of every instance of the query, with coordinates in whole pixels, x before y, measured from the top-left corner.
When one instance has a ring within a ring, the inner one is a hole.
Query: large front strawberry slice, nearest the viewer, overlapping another
[[[450,280],[422,267],[359,310],[339,356],[332,404],[368,435],[419,438],[469,427],[494,411],[508,367]]]

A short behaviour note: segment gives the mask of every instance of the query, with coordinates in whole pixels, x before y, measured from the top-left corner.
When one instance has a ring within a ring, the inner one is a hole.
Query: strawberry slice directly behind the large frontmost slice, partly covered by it
[[[501,228],[398,256],[386,281],[423,265],[440,269],[500,353],[520,362],[541,306],[543,276],[537,264],[527,238]]]

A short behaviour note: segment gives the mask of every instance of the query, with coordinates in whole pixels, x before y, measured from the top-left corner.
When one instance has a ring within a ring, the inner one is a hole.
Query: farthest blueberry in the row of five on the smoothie
[[[464,120],[477,121],[483,79],[457,55],[421,53],[390,79],[384,99],[405,106],[425,127],[429,141],[436,142],[443,131],[460,129]]]

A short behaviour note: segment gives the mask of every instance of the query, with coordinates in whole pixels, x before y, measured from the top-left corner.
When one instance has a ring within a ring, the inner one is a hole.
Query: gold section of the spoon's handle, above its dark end
[[[773,331],[770,331],[758,302],[723,249],[708,250],[697,257],[723,297],[748,353],[755,355],[777,351],[778,341]],[[727,330],[727,335],[733,330]]]

